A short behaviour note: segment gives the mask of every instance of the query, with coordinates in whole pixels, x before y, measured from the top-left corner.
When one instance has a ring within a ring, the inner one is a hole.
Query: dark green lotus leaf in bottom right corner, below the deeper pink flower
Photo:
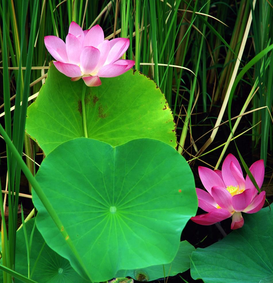
[[[244,220],[242,228],[193,252],[193,279],[205,283],[273,282],[273,213],[267,207],[245,214]]]

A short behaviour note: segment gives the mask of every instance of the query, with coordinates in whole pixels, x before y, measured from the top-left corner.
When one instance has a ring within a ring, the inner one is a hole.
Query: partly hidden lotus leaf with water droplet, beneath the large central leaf
[[[190,268],[191,254],[195,247],[187,241],[180,242],[178,252],[171,263],[154,265],[143,269],[120,270],[117,277],[130,276],[137,281],[152,281],[182,273]]]

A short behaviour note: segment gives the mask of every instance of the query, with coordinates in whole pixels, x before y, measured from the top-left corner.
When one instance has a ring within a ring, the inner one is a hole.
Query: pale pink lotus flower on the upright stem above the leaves
[[[59,37],[45,36],[45,46],[56,60],[55,67],[72,81],[82,78],[89,87],[101,85],[99,77],[116,77],[132,68],[134,61],[119,60],[129,44],[128,38],[104,40],[98,24],[82,30],[71,22],[66,43]]]

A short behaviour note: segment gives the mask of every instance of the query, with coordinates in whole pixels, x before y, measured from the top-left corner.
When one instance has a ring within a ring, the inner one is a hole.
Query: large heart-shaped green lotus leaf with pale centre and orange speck
[[[197,210],[189,165],[155,139],[116,147],[72,139],[43,160],[35,177],[95,282],[114,278],[118,270],[170,263]],[[82,274],[35,192],[32,196],[43,238]]]

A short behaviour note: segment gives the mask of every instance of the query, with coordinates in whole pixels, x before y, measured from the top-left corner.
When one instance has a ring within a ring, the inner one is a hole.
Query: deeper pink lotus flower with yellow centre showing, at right
[[[258,160],[249,168],[259,188],[264,181],[264,161]],[[244,179],[238,160],[228,154],[223,162],[222,171],[211,170],[199,166],[199,177],[208,191],[196,188],[198,206],[208,213],[191,217],[191,220],[201,225],[212,225],[232,216],[231,229],[244,225],[241,212],[255,213],[265,201],[265,192],[258,194],[250,178]]]

